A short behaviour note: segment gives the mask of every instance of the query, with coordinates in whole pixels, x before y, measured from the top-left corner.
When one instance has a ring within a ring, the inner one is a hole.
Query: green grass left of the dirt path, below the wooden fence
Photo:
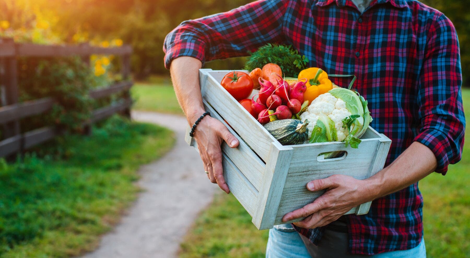
[[[41,146],[41,152],[55,150],[42,158],[0,160],[0,257],[93,250],[139,192],[138,167],[173,143],[168,129],[113,117],[91,137],[71,135]]]

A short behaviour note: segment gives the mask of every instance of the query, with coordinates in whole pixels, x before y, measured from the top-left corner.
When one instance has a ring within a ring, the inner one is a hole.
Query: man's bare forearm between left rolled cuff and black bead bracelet
[[[205,112],[199,86],[201,67],[201,61],[188,56],[174,59],[170,67],[176,98],[189,124],[194,123]]]

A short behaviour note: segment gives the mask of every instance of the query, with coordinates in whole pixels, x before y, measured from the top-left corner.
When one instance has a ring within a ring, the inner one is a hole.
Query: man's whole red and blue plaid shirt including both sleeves
[[[183,22],[165,39],[165,66],[179,56],[201,61],[247,55],[266,43],[293,45],[310,66],[354,74],[371,126],[392,139],[385,165],[412,142],[428,146],[437,172],[461,159],[465,118],[454,25],[415,0],[374,0],[361,14],[350,0],[259,0]],[[334,83],[347,87],[347,78]],[[407,250],[423,236],[418,183],[347,215],[349,252]],[[298,231],[313,243],[323,228]]]

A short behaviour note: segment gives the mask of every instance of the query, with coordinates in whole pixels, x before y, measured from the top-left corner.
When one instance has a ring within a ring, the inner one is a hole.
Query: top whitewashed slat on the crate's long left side
[[[203,99],[207,101],[227,121],[230,126],[242,137],[251,148],[266,161],[269,159],[268,152],[272,142],[276,139],[270,135],[264,127],[256,121],[227,91],[214,79],[211,72],[201,71],[201,91]]]

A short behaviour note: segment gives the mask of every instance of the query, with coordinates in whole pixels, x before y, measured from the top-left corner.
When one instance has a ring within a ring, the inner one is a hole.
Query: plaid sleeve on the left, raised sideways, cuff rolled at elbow
[[[287,0],[259,0],[225,13],[181,23],[164,41],[164,63],[190,56],[204,61],[247,55],[266,43],[284,43]]]

